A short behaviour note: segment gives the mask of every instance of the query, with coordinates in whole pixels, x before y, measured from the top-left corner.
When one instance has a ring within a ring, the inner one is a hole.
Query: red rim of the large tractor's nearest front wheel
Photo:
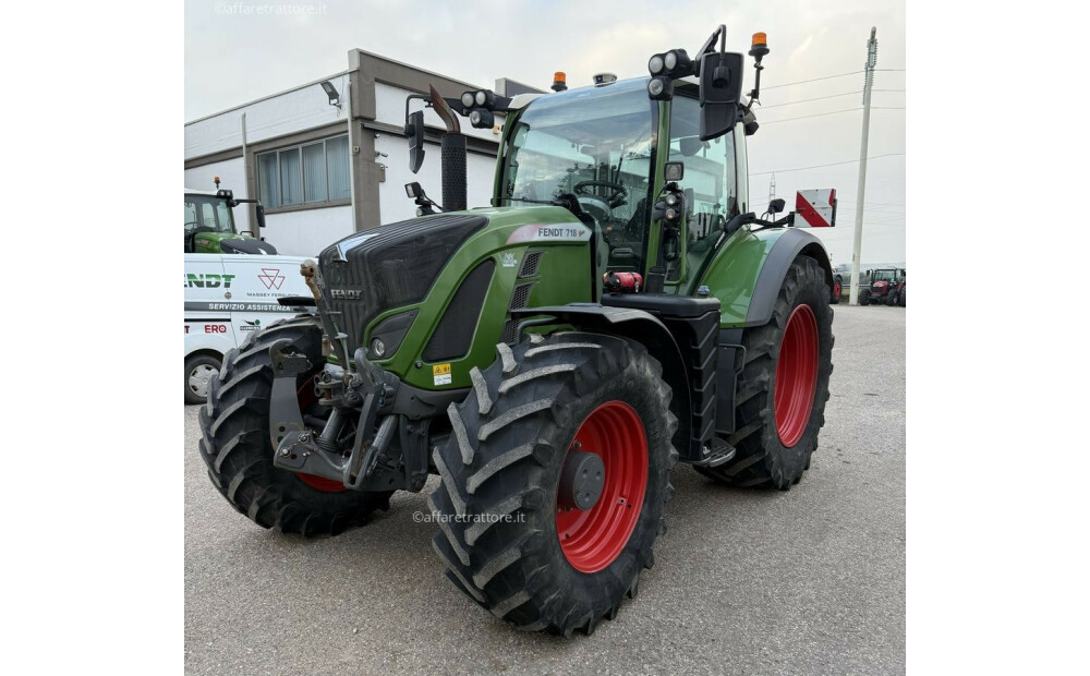
[[[602,458],[605,486],[586,511],[557,506],[556,534],[572,568],[597,572],[620,555],[640,520],[647,490],[647,437],[632,407],[608,401],[586,417],[576,443]]]

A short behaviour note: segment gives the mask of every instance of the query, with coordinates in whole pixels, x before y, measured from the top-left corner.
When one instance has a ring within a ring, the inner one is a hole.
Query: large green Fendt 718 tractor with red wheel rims
[[[833,270],[791,215],[750,208],[768,50],[755,35],[742,104],[725,40],[548,95],[433,89],[443,213],[410,184],[422,217],[303,264],[313,298],[281,302],[315,311],[226,357],[201,409],[219,492],[262,527],[336,534],[437,474],[427,520],[453,586],[570,636],[635,595],[676,463],[798,483],[828,399]],[[458,117],[497,111],[493,205],[465,210]],[[407,117],[416,169],[423,116]]]

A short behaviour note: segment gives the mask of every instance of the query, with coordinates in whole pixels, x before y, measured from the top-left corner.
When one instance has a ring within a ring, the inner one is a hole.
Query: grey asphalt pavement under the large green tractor
[[[593,636],[525,633],[456,590],[426,497],[336,538],[262,529],[197,454],[185,407],[185,671],[192,674],[905,671],[905,316],[835,306],[820,447],[789,492],[674,470],[640,593]]]

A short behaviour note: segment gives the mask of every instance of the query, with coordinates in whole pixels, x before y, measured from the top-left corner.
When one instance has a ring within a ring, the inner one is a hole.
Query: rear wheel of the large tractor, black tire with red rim
[[[815,343],[813,352],[810,340]],[[816,261],[795,259],[772,319],[747,328],[742,345],[746,364],[735,400],[738,426],[727,438],[738,452],[722,467],[697,471],[737,486],[787,491],[810,468],[810,457],[818,449],[833,372],[833,309]],[[812,390],[806,386],[810,382]]]

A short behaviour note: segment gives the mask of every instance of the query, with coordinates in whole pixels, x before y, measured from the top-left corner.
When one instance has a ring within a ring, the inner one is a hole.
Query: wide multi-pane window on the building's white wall
[[[266,208],[350,198],[348,135],[257,154],[257,185]]]

